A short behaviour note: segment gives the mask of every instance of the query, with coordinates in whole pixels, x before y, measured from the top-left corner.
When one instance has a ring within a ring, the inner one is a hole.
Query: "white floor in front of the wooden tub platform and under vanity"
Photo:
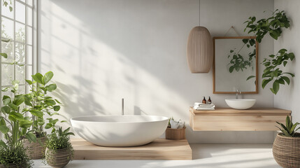
[[[257,168],[279,167],[272,144],[190,144],[193,160],[73,160],[66,167],[87,168]],[[34,167],[49,167],[35,160]]]

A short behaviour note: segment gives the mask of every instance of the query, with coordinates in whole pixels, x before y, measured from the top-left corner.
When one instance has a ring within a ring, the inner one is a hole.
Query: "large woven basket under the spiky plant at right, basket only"
[[[300,134],[297,137],[284,137],[277,134],[273,143],[273,156],[283,168],[300,167]]]

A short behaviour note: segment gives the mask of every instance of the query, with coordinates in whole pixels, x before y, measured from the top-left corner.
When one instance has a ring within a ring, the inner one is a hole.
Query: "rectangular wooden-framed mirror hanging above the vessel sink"
[[[258,93],[258,50],[255,36],[213,37],[213,93]]]

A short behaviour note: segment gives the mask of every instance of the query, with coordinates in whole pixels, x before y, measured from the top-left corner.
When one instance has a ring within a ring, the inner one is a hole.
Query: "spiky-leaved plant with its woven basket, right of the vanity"
[[[278,122],[276,122],[278,123]],[[278,123],[280,133],[273,143],[273,156],[281,167],[300,167],[300,133],[299,123],[293,124],[287,116],[285,125]],[[277,127],[277,126],[276,126]]]

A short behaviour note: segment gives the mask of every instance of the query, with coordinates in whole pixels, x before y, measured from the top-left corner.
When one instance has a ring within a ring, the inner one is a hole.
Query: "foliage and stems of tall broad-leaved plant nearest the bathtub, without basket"
[[[48,92],[57,89],[55,83],[48,84],[52,77],[52,71],[48,71],[44,76],[41,73],[36,73],[35,75],[32,75],[33,80],[26,80],[31,87],[31,92],[24,95],[24,103],[28,106],[24,111],[33,115],[34,123],[32,130],[34,131],[34,134],[36,134],[36,137],[45,137],[45,132],[43,130],[43,125],[45,125],[45,114],[48,114],[49,116],[58,115],[57,111],[60,109],[59,105],[61,103],[48,95]],[[52,118],[48,118],[48,121],[49,123],[53,123]],[[45,125],[46,129],[50,128],[49,123]]]

